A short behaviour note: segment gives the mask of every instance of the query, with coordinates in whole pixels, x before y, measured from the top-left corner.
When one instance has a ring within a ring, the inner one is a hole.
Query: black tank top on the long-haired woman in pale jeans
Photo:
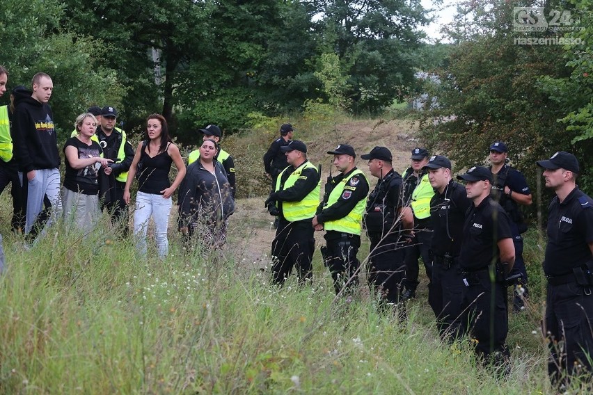
[[[146,150],[142,150],[139,161],[141,166],[139,166],[138,191],[162,195],[161,191],[171,186],[171,182],[169,182],[169,171],[171,170],[173,159],[167,154],[169,145],[171,143],[167,145],[166,150],[152,158],[148,156]]]

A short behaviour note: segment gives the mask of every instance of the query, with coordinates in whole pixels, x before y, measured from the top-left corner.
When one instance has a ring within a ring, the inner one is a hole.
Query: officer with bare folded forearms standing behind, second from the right
[[[521,233],[527,230],[527,225],[519,209],[519,204],[528,206],[531,204],[531,191],[525,177],[519,170],[507,164],[507,145],[502,141],[495,141],[490,145],[490,170],[493,176],[492,194],[494,200],[507,211],[511,220],[511,232],[515,245],[515,264],[511,275],[519,275],[516,278],[516,289],[513,298],[513,309],[520,312],[525,309],[524,299],[528,297],[527,271],[523,261],[523,236]]]

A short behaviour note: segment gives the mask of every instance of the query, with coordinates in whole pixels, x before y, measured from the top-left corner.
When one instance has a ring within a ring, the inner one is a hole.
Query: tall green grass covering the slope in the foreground
[[[336,137],[333,126],[311,135],[305,129],[299,137],[311,141],[312,153],[349,140]],[[253,163],[272,135],[259,136],[236,138],[265,141],[252,146]],[[361,149],[375,144],[367,136]],[[0,393],[551,392],[538,330],[541,239],[535,231],[525,248],[532,302],[511,316],[512,371],[496,380],[476,366],[467,341],[439,341],[425,291],[409,305],[408,321],[398,324],[377,312],[365,292],[352,303],[336,300],[318,252],[312,287],[299,289],[294,279],[282,289],[270,287],[267,262],[244,261],[248,250],[269,250],[269,241],[250,236],[268,227],[262,199],[242,202],[252,211],[231,218],[223,251],[184,253],[172,230],[171,255],[159,261],[154,253],[139,257],[106,226],[86,239],[54,227],[26,251],[8,229],[9,197],[5,192],[0,200],[8,261],[0,279]]]

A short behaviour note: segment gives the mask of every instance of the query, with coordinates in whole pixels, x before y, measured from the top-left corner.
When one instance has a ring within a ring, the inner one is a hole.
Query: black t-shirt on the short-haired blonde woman
[[[101,156],[102,150],[99,143],[90,140],[90,145],[86,145],[76,137],[70,137],[66,140],[64,145],[64,152],[66,147],[72,145],[78,150],[79,159],[96,158]],[[68,157],[65,159],[66,171],[64,175],[64,187],[70,189],[70,191],[84,193],[84,195],[97,195],[99,193],[99,182],[97,181],[98,171],[101,168],[101,164],[98,162],[93,163],[86,168],[75,169],[70,166]]]

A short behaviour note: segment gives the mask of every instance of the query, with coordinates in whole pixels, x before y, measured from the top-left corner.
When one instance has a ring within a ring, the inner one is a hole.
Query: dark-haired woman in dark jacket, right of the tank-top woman
[[[220,248],[226,241],[226,220],[235,211],[232,189],[222,164],[216,161],[216,141],[206,139],[199,160],[187,167],[179,188],[179,228],[187,239],[199,236]]]

